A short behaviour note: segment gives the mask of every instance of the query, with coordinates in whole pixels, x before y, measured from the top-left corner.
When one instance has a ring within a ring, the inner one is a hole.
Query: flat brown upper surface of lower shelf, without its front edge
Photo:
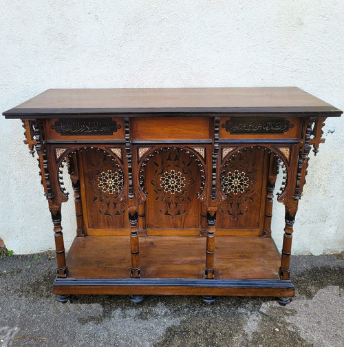
[[[206,238],[147,237],[139,246],[141,278],[204,278]],[[214,254],[215,279],[279,279],[281,259],[271,239],[218,237]],[[67,267],[69,277],[130,278],[129,237],[76,238]]]

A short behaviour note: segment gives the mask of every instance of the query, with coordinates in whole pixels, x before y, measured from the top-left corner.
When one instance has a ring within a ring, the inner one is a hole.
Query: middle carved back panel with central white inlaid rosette
[[[195,158],[181,149],[162,149],[144,169],[147,189],[147,229],[200,227],[200,169]]]

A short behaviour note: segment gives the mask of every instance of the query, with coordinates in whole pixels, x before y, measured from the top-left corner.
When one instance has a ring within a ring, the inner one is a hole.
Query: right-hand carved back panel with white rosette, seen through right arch
[[[255,147],[226,160],[220,185],[227,198],[219,205],[217,229],[262,228],[267,156]]]

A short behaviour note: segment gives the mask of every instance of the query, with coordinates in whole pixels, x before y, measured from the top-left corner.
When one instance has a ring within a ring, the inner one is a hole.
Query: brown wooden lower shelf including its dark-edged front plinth
[[[56,278],[58,294],[294,295],[279,280],[281,260],[272,239],[215,238],[215,279],[204,279],[206,238],[140,238],[141,278],[130,278],[127,236],[76,238],[67,256],[67,278]]]

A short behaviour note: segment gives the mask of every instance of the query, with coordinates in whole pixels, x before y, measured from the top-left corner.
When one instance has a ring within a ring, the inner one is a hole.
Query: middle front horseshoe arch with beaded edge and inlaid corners
[[[203,147],[203,146],[202,146]],[[194,158],[197,163],[199,164],[200,171],[201,171],[201,191],[200,194],[198,195],[198,199],[202,202],[206,200],[206,194],[208,191],[208,185],[209,185],[209,178],[208,175],[206,174],[206,162],[205,158],[210,158],[211,157],[211,147],[210,146],[204,146],[204,156],[202,154],[195,150],[192,146],[178,146],[178,145],[173,145],[167,147],[166,145],[160,145],[160,146],[154,146],[150,147],[147,151],[144,151],[144,154],[140,156],[140,160],[138,162],[138,176],[137,176],[137,182],[138,182],[138,200],[140,202],[144,202],[147,200],[147,192],[145,191],[144,188],[144,169],[147,165],[147,161],[154,156],[154,154],[158,153],[158,151],[161,151],[162,149],[180,149],[181,151],[185,151],[187,154],[190,154],[192,158]],[[134,149],[134,151],[138,151],[138,147]],[[206,153],[208,152],[208,155]]]

